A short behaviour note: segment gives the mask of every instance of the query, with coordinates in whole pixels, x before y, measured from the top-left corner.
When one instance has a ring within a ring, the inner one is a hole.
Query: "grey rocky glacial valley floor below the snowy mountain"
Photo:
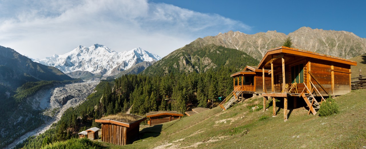
[[[43,115],[48,117],[44,119],[43,125],[19,137],[5,149],[14,148],[16,144],[23,142],[30,136],[44,133],[51,127],[52,123],[60,120],[64,111],[85,101],[87,95],[93,92],[98,83],[99,81],[72,83],[49,90],[41,90],[36,95],[27,98],[28,104],[32,105],[35,110],[43,110]],[[68,95],[72,95],[74,98],[61,104],[60,99]]]

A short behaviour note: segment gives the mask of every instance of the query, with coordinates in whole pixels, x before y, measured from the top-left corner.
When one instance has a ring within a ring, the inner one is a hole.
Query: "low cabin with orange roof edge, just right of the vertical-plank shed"
[[[175,119],[182,118],[182,116],[183,114],[177,111],[151,111],[146,114],[146,117],[149,118],[147,124],[150,126],[170,122]]]

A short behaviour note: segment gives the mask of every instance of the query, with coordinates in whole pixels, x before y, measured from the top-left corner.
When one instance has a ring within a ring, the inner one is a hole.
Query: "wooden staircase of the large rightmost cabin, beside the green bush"
[[[313,86],[313,89],[310,91],[309,88],[307,88],[306,84],[304,83],[305,85],[305,88],[302,90],[302,92],[300,93],[300,97],[304,98],[306,104],[307,104],[307,107],[309,107],[309,112],[307,113],[307,115],[310,114],[310,111],[311,113],[313,113],[314,115],[317,114],[317,112],[315,111],[316,109],[320,109],[320,104],[321,102],[325,99],[322,97],[322,95],[320,94],[320,92],[318,91],[318,89],[314,86],[313,82],[311,82],[311,85]],[[306,89],[306,90],[305,90]],[[315,99],[314,95],[313,95],[313,91],[317,91],[317,93],[321,96],[322,100],[320,103],[318,103],[318,101]],[[307,94],[307,93],[309,94]],[[306,95],[307,94],[307,95]]]

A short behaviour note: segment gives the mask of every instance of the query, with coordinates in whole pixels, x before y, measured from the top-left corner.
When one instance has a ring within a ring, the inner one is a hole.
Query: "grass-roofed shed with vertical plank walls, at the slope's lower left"
[[[132,144],[139,135],[140,122],[146,117],[132,114],[116,114],[96,119],[102,123],[102,141],[115,145]]]

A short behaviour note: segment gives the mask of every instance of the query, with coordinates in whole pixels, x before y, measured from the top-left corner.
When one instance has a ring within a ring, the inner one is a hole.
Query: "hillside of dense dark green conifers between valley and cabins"
[[[157,75],[123,75],[114,80],[102,81],[87,101],[68,109],[60,121],[46,133],[36,138],[28,138],[17,148],[40,148],[43,142],[77,137],[78,132],[87,128],[100,128],[100,123],[93,122],[94,119],[126,112],[131,106],[130,112],[138,115],[156,110],[176,110],[184,113],[194,107],[208,107],[208,99],[225,96],[232,91],[230,74],[242,70],[246,65],[259,63],[242,51],[214,45],[191,53],[194,54],[190,55],[191,57],[210,57],[216,66],[206,68],[205,73],[185,72],[179,68],[166,73],[159,72],[158,70],[162,70],[159,68],[149,71]],[[166,66],[174,65],[174,60],[179,59],[171,60]],[[199,69],[205,67],[201,65]]]

